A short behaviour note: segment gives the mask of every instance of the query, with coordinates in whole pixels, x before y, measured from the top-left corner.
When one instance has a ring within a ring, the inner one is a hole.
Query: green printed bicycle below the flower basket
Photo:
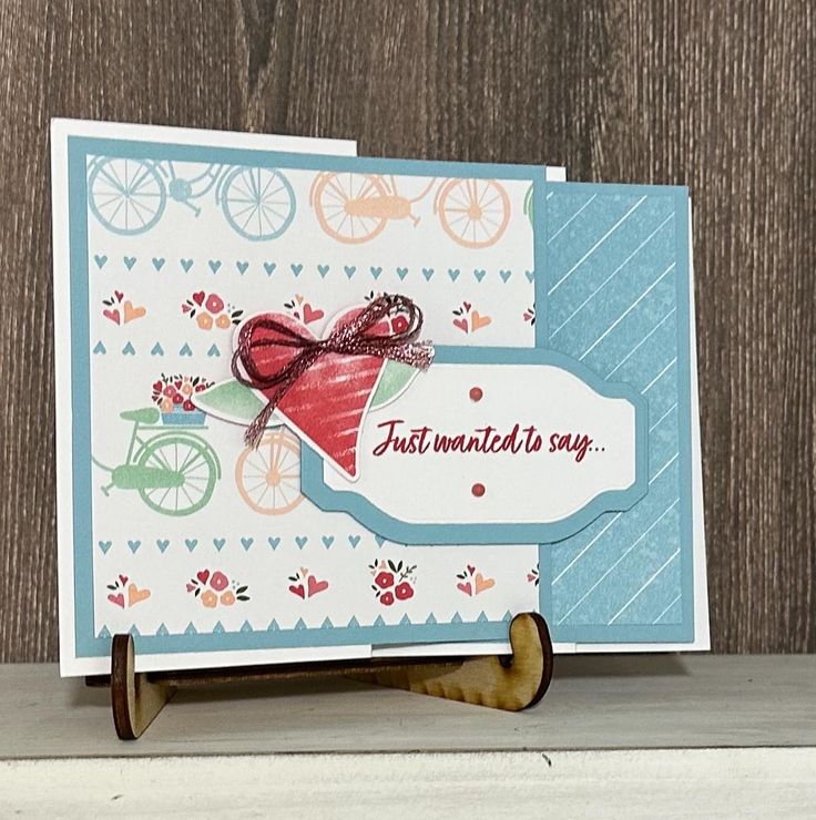
[[[91,457],[96,467],[111,474],[102,488],[136,490],[142,501],[163,515],[191,515],[212,498],[221,478],[221,463],[213,448],[193,430],[201,426],[174,424],[169,430],[160,422],[157,408],[126,410],[120,418],[133,424],[123,464],[108,467]]]

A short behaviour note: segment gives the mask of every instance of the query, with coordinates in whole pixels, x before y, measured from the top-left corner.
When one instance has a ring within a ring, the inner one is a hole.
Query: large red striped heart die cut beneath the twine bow
[[[348,324],[363,310],[346,311],[326,334]],[[292,328],[299,336],[315,339],[310,330],[290,316],[264,316]],[[256,317],[259,318],[264,317]],[[368,330],[369,335],[387,332],[386,321]],[[275,329],[256,326],[251,334],[251,345],[285,338]],[[296,347],[269,345],[252,348],[251,356],[258,371],[266,376],[280,372],[299,352]],[[384,366],[385,359],[379,356],[325,353],[295,381],[277,406],[306,439],[351,478],[357,475],[360,427]],[[275,394],[274,388],[262,392],[267,399]]]

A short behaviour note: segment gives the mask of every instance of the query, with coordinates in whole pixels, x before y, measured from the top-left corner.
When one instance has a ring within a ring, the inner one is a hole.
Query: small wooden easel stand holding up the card
[[[114,635],[111,675],[88,678],[91,686],[111,687],[113,725],[122,740],[134,740],[182,687],[218,683],[284,680],[345,676],[365,683],[518,711],[537,704],[552,678],[552,642],[538,613],[522,613],[510,623],[512,654],[457,658],[374,659],[276,664],[223,669],[137,673],[133,637]]]

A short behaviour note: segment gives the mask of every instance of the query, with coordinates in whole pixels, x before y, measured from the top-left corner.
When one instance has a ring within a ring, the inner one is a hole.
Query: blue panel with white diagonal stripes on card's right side
[[[567,183],[548,194],[544,344],[647,399],[650,489],[542,545],[542,604],[557,640],[691,640],[686,193]]]

